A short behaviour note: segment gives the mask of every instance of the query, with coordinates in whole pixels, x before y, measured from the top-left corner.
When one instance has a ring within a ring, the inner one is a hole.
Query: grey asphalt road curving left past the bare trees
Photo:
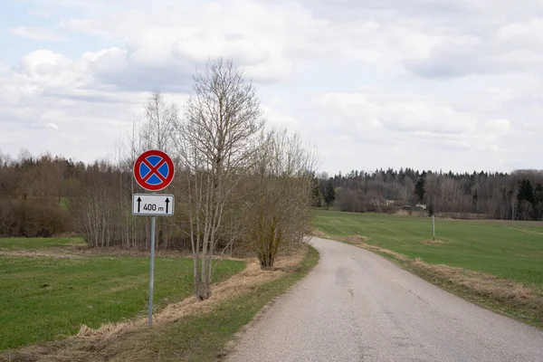
[[[543,331],[343,243],[243,335],[229,361],[543,362]]]

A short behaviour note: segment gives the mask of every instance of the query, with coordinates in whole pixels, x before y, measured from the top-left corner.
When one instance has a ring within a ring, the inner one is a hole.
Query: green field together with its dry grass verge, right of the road
[[[319,211],[315,234],[380,253],[427,281],[543,328],[543,224]]]

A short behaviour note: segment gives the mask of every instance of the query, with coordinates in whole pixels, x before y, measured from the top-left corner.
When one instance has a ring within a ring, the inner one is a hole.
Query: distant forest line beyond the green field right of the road
[[[460,174],[388,168],[334,176],[322,173],[313,182],[315,206],[336,205],[348,212],[424,207],[428,214],[457,218],[543,220],[541,170]]]

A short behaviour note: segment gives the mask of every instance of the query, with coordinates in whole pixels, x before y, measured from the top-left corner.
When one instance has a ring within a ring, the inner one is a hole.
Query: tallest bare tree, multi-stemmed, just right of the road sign
[[[177,146],[188,191],[195,294],[205,300],[224,207],[252,164],[263,122],[252,83],[232,61],[211,60],[193,78],[195,94],[178,125]]]

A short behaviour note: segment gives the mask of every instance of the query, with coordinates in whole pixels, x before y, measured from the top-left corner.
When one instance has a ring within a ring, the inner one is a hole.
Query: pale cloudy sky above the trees
[[[0,0],[0,150],[90,162],[243,68],[320,171],[543,168],[543,0]]]

